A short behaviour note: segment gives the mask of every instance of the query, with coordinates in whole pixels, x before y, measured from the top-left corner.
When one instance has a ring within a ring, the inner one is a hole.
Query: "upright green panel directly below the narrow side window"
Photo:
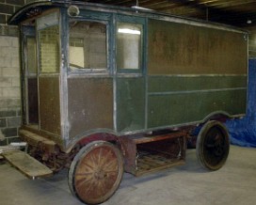
[[[145,79],[117,79],[117,129],[119,132],[145,128]]]

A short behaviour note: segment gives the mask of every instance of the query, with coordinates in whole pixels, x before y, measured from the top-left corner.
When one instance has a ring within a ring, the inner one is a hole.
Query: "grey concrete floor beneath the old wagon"
[[[186,165],[135,178],[124,174],[120,188],[103,205],[254,205],[256,149],[231,147],[225,166],[215,172],[200,167],[195,150]],[[67,171],[31,181],[3,162],[0,165],[2,205],[81,205],[69,191]]]

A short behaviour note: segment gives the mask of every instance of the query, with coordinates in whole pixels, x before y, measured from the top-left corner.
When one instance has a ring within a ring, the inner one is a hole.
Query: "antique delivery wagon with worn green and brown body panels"
[[[200,164],[224,165],[223,122],[246,113],[245,31],[68,0],[31,2],[9,24],[21,31],[19,134],[33,158],[4,155],[28,177],[68,167],[72,194],[101,203],[123,171],[183,165],[195,129]]]

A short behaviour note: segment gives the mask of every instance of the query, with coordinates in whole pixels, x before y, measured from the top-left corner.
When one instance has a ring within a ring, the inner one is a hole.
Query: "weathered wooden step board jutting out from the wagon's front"
[[[47,166],[42,165],[35,158],[21,150],[8,150],[2,156],[25,176],[34,180],[37,178],[48,177],[53,171]]]

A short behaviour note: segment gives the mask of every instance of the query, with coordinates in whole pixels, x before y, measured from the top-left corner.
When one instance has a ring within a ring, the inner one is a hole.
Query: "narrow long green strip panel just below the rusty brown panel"
[[[247,87],[247,76],[150,76],[149,92]]]

